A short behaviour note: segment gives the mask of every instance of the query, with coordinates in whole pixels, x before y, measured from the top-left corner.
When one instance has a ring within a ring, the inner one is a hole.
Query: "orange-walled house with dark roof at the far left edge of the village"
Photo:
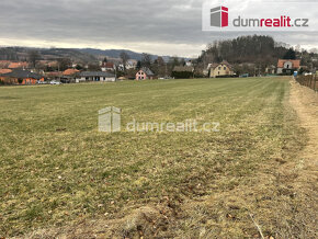
[[[4,84],[36,84],[44,81],[44,78],[37,73],[22,69],[7,69],[0,71],[0,81]]]

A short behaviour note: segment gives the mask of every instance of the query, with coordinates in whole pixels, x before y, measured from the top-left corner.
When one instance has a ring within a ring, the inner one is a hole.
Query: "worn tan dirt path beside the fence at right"
[[[297,157],[297,163],[286,163],[281,169],[285,175],[296,175],[286,183],[295,192],[291,236],[299,238],[317,237],[318,219],[318,93],[291,80],[289,104],[296,111],[300,126],[308,139]],[[286,234],[286,232],[285,232]]]

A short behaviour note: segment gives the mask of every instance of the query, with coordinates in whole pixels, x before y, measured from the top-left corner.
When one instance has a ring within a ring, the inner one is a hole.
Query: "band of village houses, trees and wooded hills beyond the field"
[[[23,47],[0,48],[0,59],[1,84],[315,75],[318,68],[317,53],[257,35],[215,42],[194,59],[129,50]]]

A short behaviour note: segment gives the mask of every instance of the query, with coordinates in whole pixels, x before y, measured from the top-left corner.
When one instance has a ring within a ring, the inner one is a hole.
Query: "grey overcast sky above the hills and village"
[[[240,2],[243,1],[249,0]],[[0,45],[126,48],[159,55],[197,56],[207,43],[246,35],[202,32],[202,2],[0,0]],[[318,45],[318,33],[268,35],[306,48]]]

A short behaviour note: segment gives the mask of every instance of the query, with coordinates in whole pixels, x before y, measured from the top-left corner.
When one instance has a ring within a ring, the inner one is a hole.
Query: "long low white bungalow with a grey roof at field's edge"
[[[116,76],[104,71],[83,71],[76,77],[77,83],[86,81],[114,82]]]

